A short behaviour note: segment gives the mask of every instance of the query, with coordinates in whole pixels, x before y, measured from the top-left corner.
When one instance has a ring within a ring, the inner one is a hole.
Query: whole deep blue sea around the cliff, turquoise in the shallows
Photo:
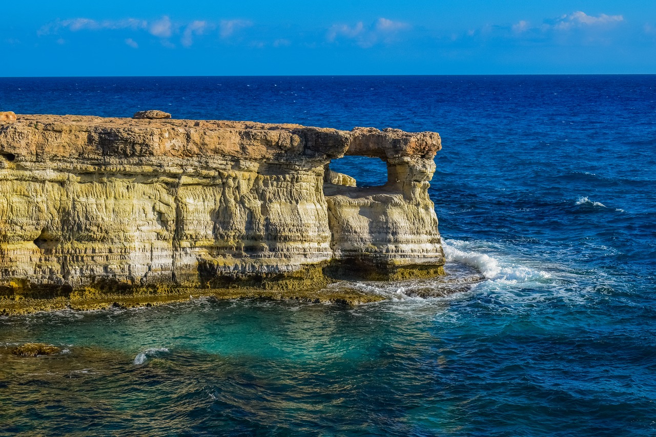
[[[439,132],[445,253],[485,280],[3,317],[64,352],[0,355],[0,434],[656,435],[656,75],[0,78],[17,114],[146,109]]]

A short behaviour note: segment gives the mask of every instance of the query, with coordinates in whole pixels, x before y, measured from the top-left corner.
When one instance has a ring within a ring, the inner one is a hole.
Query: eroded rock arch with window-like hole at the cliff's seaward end
[[[428,197],[433,158],[440,148],[440,135],[434,132],[352,131],[346,154],[383,159],[388,182],[368,188],[325,185],[331,248],[342,260],[345,276],[405,279],[440,274],[444,253]],[[367,274],[361,275],[363,271]]]

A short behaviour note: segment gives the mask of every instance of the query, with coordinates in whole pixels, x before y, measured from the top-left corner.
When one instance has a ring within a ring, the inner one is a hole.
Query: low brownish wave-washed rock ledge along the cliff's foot
[[[65,295],[14,295],[0,297],[0,317],[21,316],[36,312],[56,312],[62,310],[93,311],[111,308],[143,308],[192,302],[197,299],[264,299],[272,301],[297,301],[307,303],[342,304],[358,306],[374,302],[389,301],[405,295],[428,299],[445,297],[453,293],[468,291],[485,279],[476,268],[449,262],[447,270],[436,277],[399,280],[359,281],[327,280],[305,282],[277,281],[264,286],[241,286],[224,288],[197,287],[133,287],[98,291],[72,291]],[[361,287],[358,285],[365,284]],[[386,290],[386,292],[382,292]],[[391,290],[391,291],[390,291]],[[52,289],[51,289],[52,291]]]

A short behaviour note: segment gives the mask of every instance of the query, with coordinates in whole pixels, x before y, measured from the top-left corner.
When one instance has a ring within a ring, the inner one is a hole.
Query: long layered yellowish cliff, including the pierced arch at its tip
[[[0,122],[0,297],[439,276],[439,149],[396,129],[16,115]],[[387,183],[332,171],[344,155],[386,161]]]

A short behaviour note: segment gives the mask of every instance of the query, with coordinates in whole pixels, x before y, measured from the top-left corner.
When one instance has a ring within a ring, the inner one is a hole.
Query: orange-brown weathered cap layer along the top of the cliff
[[[46,157],[194,157],[266,159],[348,155],[432,158],[434,132],[356,127],[352,131],[251,121],[131,119],[89,115],[16,115],[0,121],[0,154]]]

